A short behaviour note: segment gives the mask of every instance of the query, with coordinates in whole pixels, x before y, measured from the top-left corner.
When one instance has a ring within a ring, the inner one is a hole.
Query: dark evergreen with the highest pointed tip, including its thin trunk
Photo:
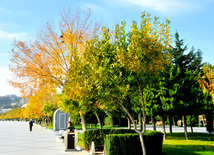
[[[196,114],[202,107],[203,90],[200,88],[199,78],[202,67],[201,51],[194,52],[194,48],[185,54],[187,46],[184,46],[183,40],[179,39],[179,34],[175,34],[175,47],[172,48],[172,64],[176,70],[179,70],[174,84],[177,84],[177,93],[175,95],[176,112],[184,116],[184,131],[186,139],[186,115]],[[184,47],[183,47],[184,46]]]

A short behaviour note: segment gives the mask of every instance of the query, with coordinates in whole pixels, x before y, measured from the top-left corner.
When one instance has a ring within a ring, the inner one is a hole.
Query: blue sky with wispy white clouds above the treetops
[[[7,79],[9,51],[14,38],[30,40],[48,21],[56,25],[63,8],[91,8],[94,17],[112,28],[125,19],[140,22],[147,11],[160,20],[169,18],[171,34],[177,31],[191,49],[200,49],[203,62],[214,65],[214,0],[1,0],[0,2],[0,96],[19,94]],[[128,29],[128,28],[127,28]]]

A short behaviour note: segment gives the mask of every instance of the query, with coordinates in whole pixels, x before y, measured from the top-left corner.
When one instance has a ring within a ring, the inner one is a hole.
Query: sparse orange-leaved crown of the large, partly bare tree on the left
[[[10,53],[10,70],[16,79],[11,84],[20,88],[23,94],[33,91],[41,81],[62,88],[74,56],[81,53],[98,27],[99,24],[91,19],[90,10],[77,9],[71,13],[68,9],[61,13],[58,28],[49,22],[36,39],[15,40]]]

